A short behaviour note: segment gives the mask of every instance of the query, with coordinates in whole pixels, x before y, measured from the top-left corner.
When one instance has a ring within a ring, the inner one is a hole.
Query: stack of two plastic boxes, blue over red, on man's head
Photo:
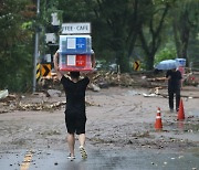
[[[61,71],[92,71],[91,35],[60,35]]]

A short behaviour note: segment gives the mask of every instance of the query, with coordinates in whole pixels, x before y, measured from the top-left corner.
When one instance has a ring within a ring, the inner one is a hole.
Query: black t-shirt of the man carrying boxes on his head
[[[66,111],[85,113],[85,91],[90,83],[88,77],[74,83],[70,78],[62,76],[61,83],[66,96]]]

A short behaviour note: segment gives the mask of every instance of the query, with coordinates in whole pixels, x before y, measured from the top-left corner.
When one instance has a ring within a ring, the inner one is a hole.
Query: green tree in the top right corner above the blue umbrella
[[[190,34],[198,32],[199,28],[199,1],[198,0],[184,0],[177,1],[171,11],[174,36],[177,49],[178,57],[187,60]]]

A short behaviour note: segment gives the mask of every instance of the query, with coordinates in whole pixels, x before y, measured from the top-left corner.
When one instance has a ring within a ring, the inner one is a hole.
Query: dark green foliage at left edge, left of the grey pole
[[[32,71],[32,32],[22,15],[28,0],[3,0],[0,7],[0,88],[25,91]]]

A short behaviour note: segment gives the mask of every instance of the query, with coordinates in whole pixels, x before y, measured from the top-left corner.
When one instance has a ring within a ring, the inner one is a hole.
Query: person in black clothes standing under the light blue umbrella
[[[177,68],[168,70],[166,73],[168,79],[169,108],[174,111],[174,95],[176,94],[176,111],[179,109],[180,91],[181,91],[181,73]]]

